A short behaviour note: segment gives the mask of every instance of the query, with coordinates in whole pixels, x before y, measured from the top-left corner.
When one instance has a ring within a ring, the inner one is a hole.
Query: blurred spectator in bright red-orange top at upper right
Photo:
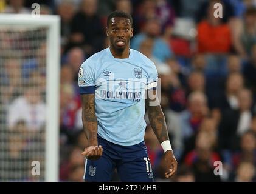
[[[231,49],[231,32],[221,18],[215,18],[215,8],[210,1],[207,8],[207,18],[198,24],[198,52],[199,53],[228,53]]]

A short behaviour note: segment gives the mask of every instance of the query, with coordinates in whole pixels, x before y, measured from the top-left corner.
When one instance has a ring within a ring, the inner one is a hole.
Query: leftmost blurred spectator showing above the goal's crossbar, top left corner
[[[31,10],[24,7],[24,0],[9,0],[9,4],[4,13],[31,14]]]

